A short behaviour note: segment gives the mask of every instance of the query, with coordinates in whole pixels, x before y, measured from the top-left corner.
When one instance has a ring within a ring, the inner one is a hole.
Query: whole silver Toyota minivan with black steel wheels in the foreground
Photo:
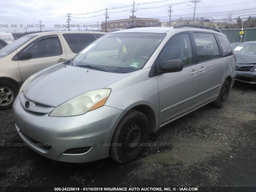
[[[13,118],[21,139],[47,158],[109,156],[127,163],[147,146],[150,132],[208,103],[224,107],[234,68],[220,32],[120,30],[30,76],[14,101]]]

